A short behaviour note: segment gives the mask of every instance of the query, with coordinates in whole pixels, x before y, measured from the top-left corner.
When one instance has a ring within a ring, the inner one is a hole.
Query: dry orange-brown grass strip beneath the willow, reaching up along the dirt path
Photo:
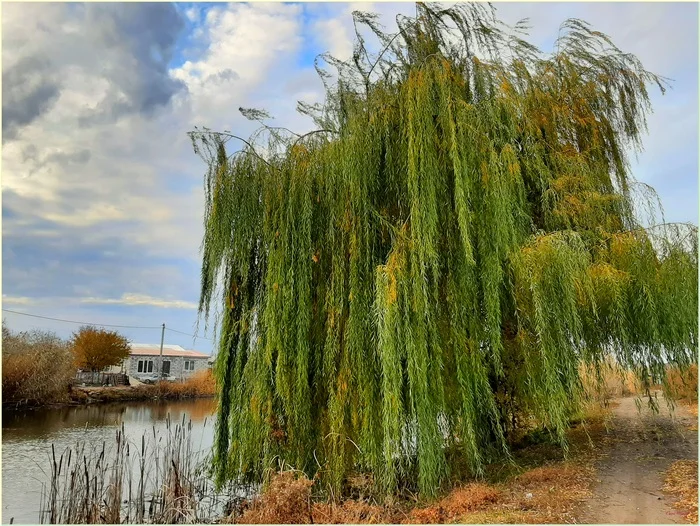
[[[440,524],[565,523],[576,521],[577,506],[590,496],[593,461],[604,442],[609,411],[591,406],[587,425],[568,432],[570,456],[547,441],[514,450],[515,464],[488,467],[485,480],[455,487],[427,505],[396,501],[379,505],[369,497],[339,503],[314,502],[313,482],[293,472],[275,475],[242,514],[225,522],[249,524]],[[361,492],[362,493],[362,492]]]

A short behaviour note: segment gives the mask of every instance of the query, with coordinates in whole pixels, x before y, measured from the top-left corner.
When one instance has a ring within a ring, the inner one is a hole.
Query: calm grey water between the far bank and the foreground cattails
[[[136,443],[146,432],[164,430],[172,422],[192,422],[192,449],[209,450],[213,443],[213,399],[175,402],[99,404],[2,415],[2,522],[37,524],[42,483],[48,482],[51,445],[56,456],[77,443],[111,444],[122,425]]]

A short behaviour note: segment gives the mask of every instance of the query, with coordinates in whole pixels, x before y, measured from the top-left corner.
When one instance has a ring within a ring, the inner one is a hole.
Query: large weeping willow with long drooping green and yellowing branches
[[[429,496],[523,417],[565,445],[581,364],[649,385],[696,362],[696,229],[652,224],[628,161],[665,79],[579,20],[544,54],[483,4],[395,34],[353,16],[352,58],[320,56],[325,101],[298,106],[316,130],[242,110],[249,140],[191,133],[219,482],[282,460],[335,495],[365,471]]]

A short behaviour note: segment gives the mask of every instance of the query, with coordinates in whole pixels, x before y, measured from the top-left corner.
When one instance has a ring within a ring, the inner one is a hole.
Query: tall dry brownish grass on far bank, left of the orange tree
[[[5,405],[68,400],[76,368],[68,344],[49,331],[2,329],[2,398]]]

